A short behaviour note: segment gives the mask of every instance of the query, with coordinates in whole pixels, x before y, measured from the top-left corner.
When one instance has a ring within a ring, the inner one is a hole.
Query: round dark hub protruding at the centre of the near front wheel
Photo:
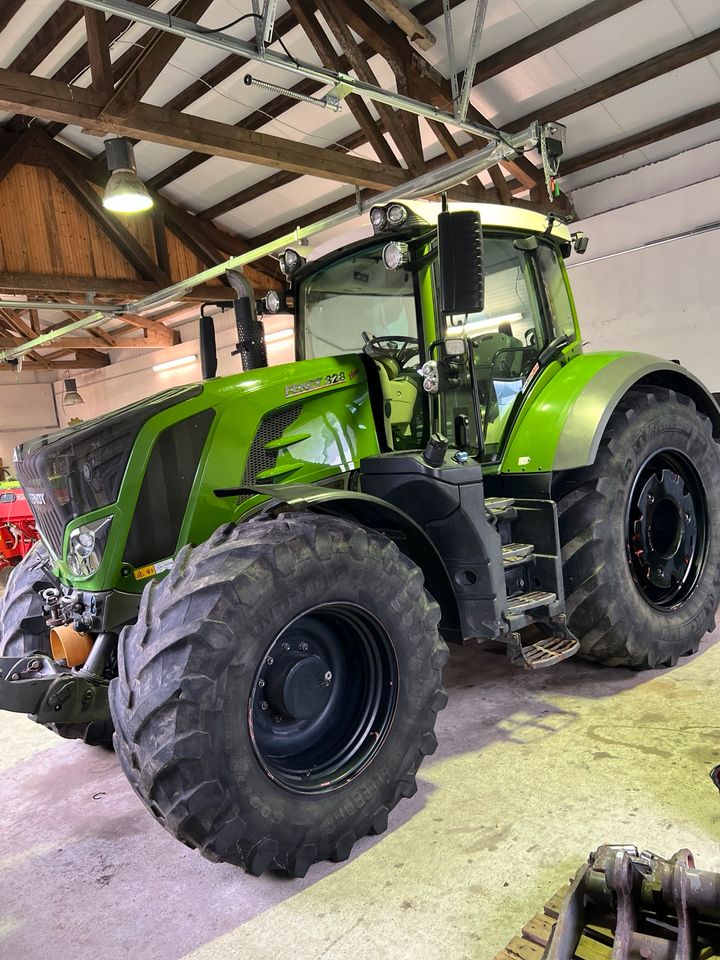
[[[328,705],[332,671],[317,655],[283,652],[268,668],[267,702],[283,718],[309,720]]]

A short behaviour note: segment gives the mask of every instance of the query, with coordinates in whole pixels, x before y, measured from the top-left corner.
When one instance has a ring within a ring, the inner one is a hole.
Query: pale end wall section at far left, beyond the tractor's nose
[[[16,443],[56,430],[52,383],[30,373],[0,373],[0,459],[12,470]]]

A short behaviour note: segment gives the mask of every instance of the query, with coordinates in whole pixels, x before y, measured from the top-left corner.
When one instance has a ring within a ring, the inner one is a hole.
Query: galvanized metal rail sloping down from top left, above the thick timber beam
[[[397,110],[405,110],[419,117],[428,117],[431,120],[450,123],[461,130],[465,130],[467,133],[474,133],[485,137],[486,140],[490,140],[493,143],[504,139],[503,133],[494,127],[486,127],[467,120],[458,119],[452,113],[441,110],[439,107],[421,103],[419,100],[414,100],[412,97],[405,97],[400,93],[382,90],[374,84],[365,83],[351,77],[349,74],[318,67],[303,60],[296,60],[284,54],[276,53],[269,48],[266,48],[264,55],[261,55],[252,43],[233,37],[229,33],[210,33],[202,27],[199,27],[196,23],[191,23],[189,20],[173,17],[170,14],[159,13],[157,10],[146,9],[137,3],[130,2],[130,0],[76,0],[76,2],[84,7],[103,10],[106,13],[114,13],[118,16],[127,17],[128,20],[136,23],[145,23],[158,30],[165,30],[168,33],[174,33],[177,36],[185,37],[189,40],[197,40],[199,43],[205,43],[220,50],[236,53],[249,60],[258,60],[270,67],[287,70],[289,73],[295,75],[311,77],[331,87],[342,84],[344,87],[349,87],[350,92],[357,93],[375,103],[386,104]],[[486,0],[480,0],[480,2],[486,2]]]

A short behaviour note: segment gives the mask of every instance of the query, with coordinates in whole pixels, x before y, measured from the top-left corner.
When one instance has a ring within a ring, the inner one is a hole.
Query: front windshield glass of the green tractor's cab
[[[413,276],[385,268],[384,246],[348,254],[302,284],[305,359],[356,353],[367,337],[417,337]]]

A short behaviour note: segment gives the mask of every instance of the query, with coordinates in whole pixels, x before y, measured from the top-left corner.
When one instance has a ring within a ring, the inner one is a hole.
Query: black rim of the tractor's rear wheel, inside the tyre
[[[653,454],[628,501],[626,545],[638,590],[653,607],[684,603],[705,564],[707,502],[697,470],[678,450]]]

